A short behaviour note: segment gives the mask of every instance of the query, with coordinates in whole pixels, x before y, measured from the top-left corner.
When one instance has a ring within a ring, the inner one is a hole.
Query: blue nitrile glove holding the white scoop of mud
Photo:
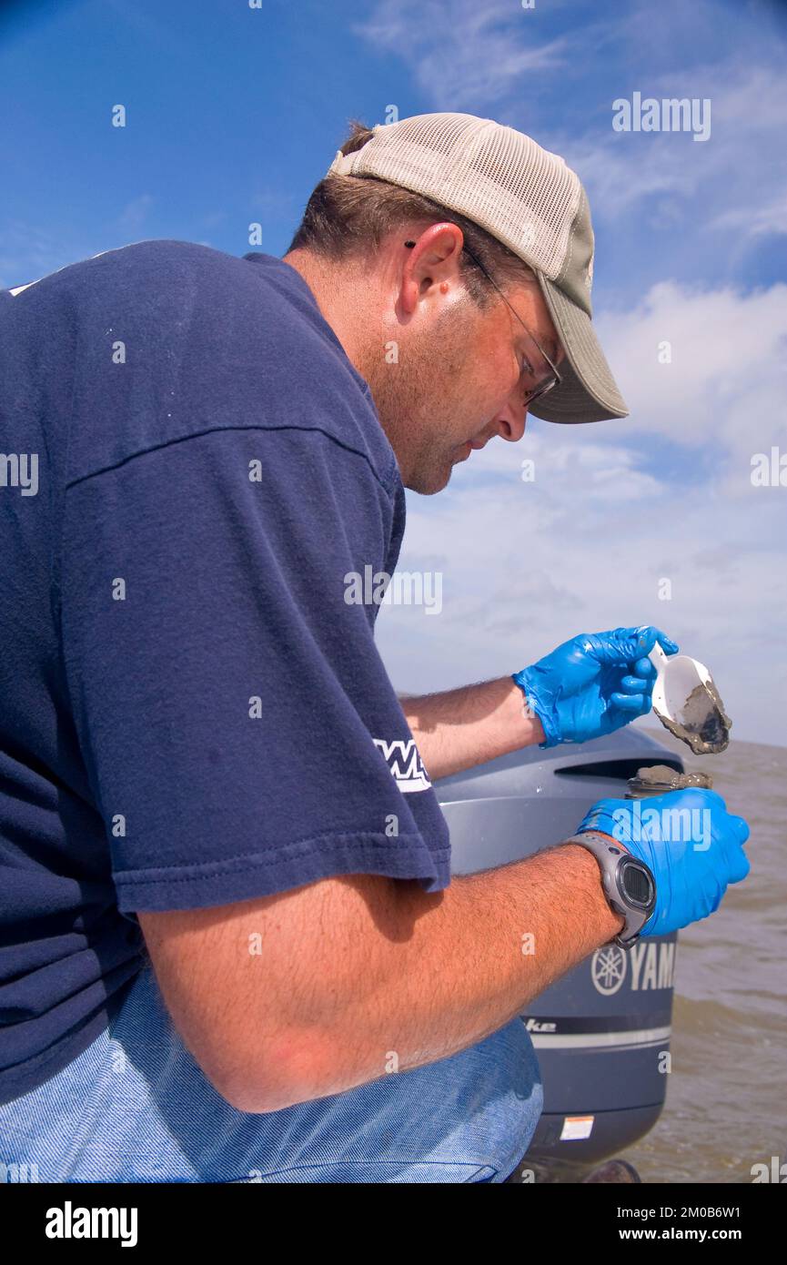
[[[648,655],[657,640],[667,654],[677,653],[660,629],[643,625],[583,632],[514,673],[542,722],[545,741],[539,745],[586,743],[645,716],[657,677]]]

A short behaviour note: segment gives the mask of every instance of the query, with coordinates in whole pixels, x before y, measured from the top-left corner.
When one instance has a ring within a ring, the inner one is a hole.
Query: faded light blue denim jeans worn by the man
[[[39,1182],[505,1182],[542,1107],[533,1042],[514,1020],[428,1066],[267,1116],[235,1111],[177,1036],[146,966],[87,1050],[0,1106],[0,1174],[27,1165]]]

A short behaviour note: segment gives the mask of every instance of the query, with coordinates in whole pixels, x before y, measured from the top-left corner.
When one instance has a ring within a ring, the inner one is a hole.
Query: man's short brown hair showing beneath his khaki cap
[[[342,153],[361,149],[372,134],[366,124],[353,119]],[[363,180],[357,176],[325,176],[306,204],[288,250],[307,249],[324,259],[347,259],[361,254],[369,244],[377,249],[388,234],[404,229],[412,220],[431,224],[449,220],[457,224],[467,248],[504,290],[507,285],[521,285],[533,278],[531,269],[519,256],[472,220],[433,202],[430,197],[376,176]],[[480,307],[485,307],[495,291],[467,253],[462,254],[461,271],[468,293]]]

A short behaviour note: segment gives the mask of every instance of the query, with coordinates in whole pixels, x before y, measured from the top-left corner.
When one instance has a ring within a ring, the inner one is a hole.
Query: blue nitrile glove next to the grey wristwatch
[[[669,791],[647,799],[600,799],[577,834],[600,830],[649,867],[655,910],[643,936],[666,936],[719,908],[728,883],[749,873],[749,827],[715,791]]]

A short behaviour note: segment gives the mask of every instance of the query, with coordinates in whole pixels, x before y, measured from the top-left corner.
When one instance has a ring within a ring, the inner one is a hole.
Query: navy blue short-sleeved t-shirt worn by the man
[[[348,600],[404,524],[290,264],[143,242],[0,292],[0,1102],[106,1026],[133,911],[448,884],[378,606]]]

